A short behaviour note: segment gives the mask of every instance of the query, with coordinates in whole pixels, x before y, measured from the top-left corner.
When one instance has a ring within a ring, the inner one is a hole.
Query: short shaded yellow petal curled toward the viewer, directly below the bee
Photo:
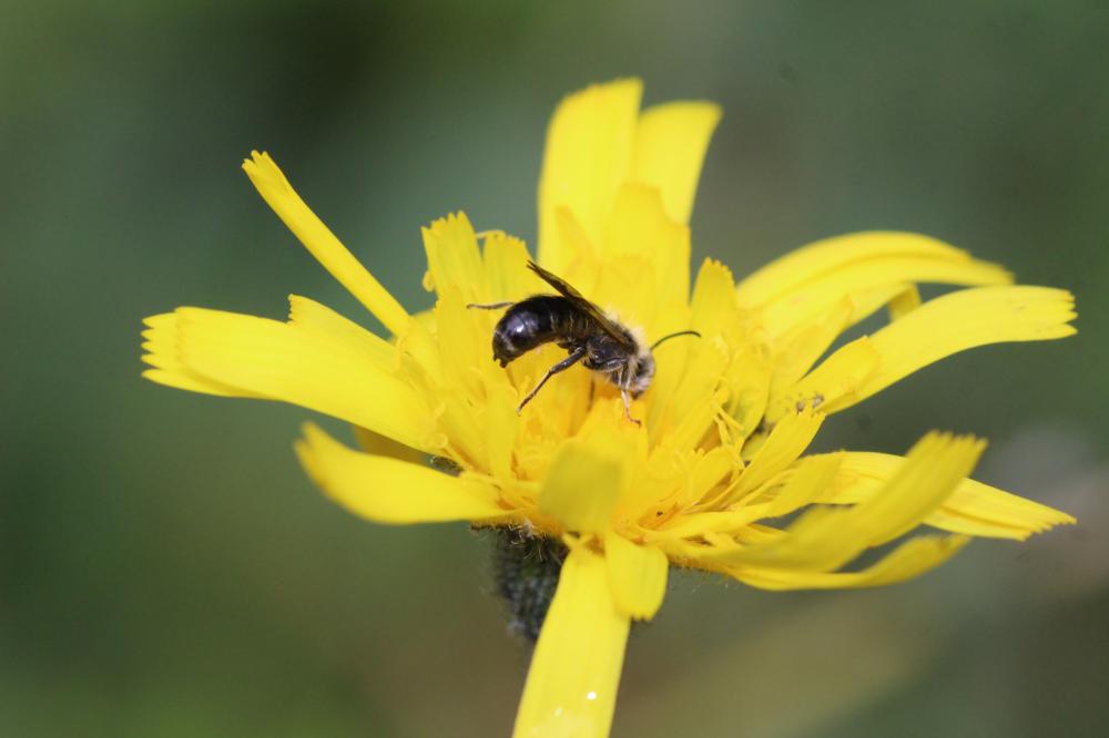
[[[624,468],[619,459],[580,439],[570,439],[547,471],[539,510],[568,531],[604,533],[619,501],[623,478]]]

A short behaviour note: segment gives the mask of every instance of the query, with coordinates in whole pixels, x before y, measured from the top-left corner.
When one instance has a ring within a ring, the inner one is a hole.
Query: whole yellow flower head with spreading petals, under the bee
[[[803,452],[826,416],[964,349],[1069,336],[1071,296],[1013,286],[936,239],[859,233],[812,244],[737,285],[704,262],[690,290],[688,227],[720,117],[680,102],[640,112],[623,80],[564,100],[539,185],[538,262],[648,340],[652,386],[629,422],[618,388],[581,368],[517,403],[564,352],[500,368],[495,312],[471,303],[549,291],[520,240],[462,214],[425,228],[435,309],[410,315],[313,214],[266,154],[244,170],[304,246],[395,337],[305,297],[285,322],[200,308],[146,319],[145,377],[282,400],[353,423],[364,450],[308,424],[297,454],[352,512],[383,523],[471,521],[561,539],[569,553],[536,646],[519,736],[603,736],[629,624],[662,603],[671,564],[769,590],[915,576],[971,536],[1022,540],[1069,515],[967,479],[984,442],[925,435],[906,457]],[[967,287],[926,303],[916,285]],[[821,357],[886,308],[888,325]],[[459,475],[421,463],[449,459]],[[793,515],[792,513],[798,514]],[[787,522],[783,522],[787,521]],[[915,534],[876,563],[865,551]]]

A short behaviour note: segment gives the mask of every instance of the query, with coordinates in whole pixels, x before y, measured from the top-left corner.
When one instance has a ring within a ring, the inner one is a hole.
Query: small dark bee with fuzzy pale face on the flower
[[[663,336],[648,347],[634,332],[610,318],[563,279],[535,262],[528,262],[528,268],[553,287],[558,295],[533,295],[519,303],[466,306],[484,310],[508,308],[492,329],[492,358],[502,367],[543,344],[554,342],[569,352],[567,358],[547,370],[516,411],[522,411],[523,406],[551,377],[581,362],[581,366],[592,369],[620,389],[624,414],[631,422],[640,424],[631,416],[631,401],[651,386],[654,377],[652,351],[676,336],[700,337],[700,334],[680,330]]]

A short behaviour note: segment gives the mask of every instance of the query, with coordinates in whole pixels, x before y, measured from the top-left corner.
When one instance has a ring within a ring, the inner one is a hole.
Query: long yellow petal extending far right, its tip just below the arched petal
[[[875,371],[856,391],[826,399],[821,409],[849,408],[922,367],[970,348],[1071,336],[1074,307],[1075,298],[1066,290],[1026,286],[964,289],[929,300],[871,336],[879,357]],[[835,358],[833,353],[827,361]],[[813,373],[820,371],[817,367]]]

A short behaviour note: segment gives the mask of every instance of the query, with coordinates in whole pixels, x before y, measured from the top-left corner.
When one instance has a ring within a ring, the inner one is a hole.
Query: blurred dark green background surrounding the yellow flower
[[[1075,290],[1077,337],[955,357],[821,443],[974,431],[980,479],[1081,524],[873,592],[675,577],[614,734],[1105,735],[1107,48],[1093,1],[4,3],[0,735],[508,735],[527,657],[489,542],[343,513],[292,454],[308,413],[140,380],[140,319],[363,315],[252,147],[427,307],[419,226],[531,240],[547,116],[625,74],[725,107],[698,262],[898,228]]]

